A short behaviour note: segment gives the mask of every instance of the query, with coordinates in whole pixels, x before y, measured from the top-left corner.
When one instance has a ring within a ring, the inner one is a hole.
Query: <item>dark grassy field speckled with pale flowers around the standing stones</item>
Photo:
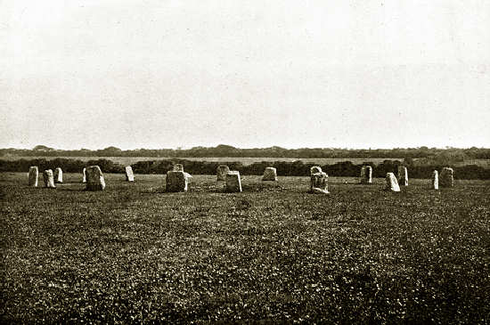
[[[1,322],[490,321],[490,182],[1,174]],[[39,179],[42,183],[41,178]],[[346,183],[347,182],[347,183]]]

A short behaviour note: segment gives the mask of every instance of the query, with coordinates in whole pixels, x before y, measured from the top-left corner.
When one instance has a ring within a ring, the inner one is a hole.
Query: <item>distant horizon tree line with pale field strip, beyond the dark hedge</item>
[[[194,147],[188,150],[180,149],[137,149],[120,150],[108,147],[102,150],[56,150],[38,145],[32,150],[27,149],[0,149],[1,156],[27,156],[27,157],[162,157],[162,158],[205,158],[205,157],[233,157],[233,158],[425,158],[431,163],[451,161],[464,161],[471,158],[490,158],[490,149],[476,148],[395,148],[395,149],[335,149],[335,148],[302,148],[284,149],[281,147],[240,149],[220,144],[216,147]]]

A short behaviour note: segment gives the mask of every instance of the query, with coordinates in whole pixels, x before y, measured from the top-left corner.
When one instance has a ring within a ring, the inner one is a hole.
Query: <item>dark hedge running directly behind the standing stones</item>
[[[232,170],[240,171],[241,175],[262,175],[265,167],[275,167],[277,174],[282,176],[307,176],[310,175],[310,168],[316,166],[312,163],[303,161],[275,161],[275,162],[256,162],[251,165],[243,165],[241,162],[212,162],[195,161],[186,159],[159,159],[138,161],[131,165],[135,174],[166,174],[172,170],[174,164],[183,164],[184,170],[194,175],[216,175],[216,167],[225,164]],[[331,165],[321,166],[323,171],[331,176],[357,177],[363,165],[373,167],[373,177],[384,177],[388,172],[396,173],[397,167],[401,164],[407,167],[410,178],[430,178],[432,171],[437,169],[439,172],[443,167],[451,167],[448,164],[441,165],[413,165],[410,160],[384,160],[380,164],[366,161],[363,164],[355,165],[350,161],[343,161]],[[39,170],[54,169],[61,167],[64,172],[81,173],[84,167],[98,165],[104,173],[124,173],[124,166],[114,163],[108,159],[96,159],[89,161],[75,160],[70,158],[55,158],[47,160],[45,158],[1,160],[0,172],[28,172],[30,166],[37,166]],[[456,179],[490,179],[490,169],[475,165],[453,167]]]

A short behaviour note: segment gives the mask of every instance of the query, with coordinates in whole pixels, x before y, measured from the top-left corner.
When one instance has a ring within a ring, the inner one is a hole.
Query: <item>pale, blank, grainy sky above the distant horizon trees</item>
[[[0,0],[0,148],[490,147],[490,2]]]

